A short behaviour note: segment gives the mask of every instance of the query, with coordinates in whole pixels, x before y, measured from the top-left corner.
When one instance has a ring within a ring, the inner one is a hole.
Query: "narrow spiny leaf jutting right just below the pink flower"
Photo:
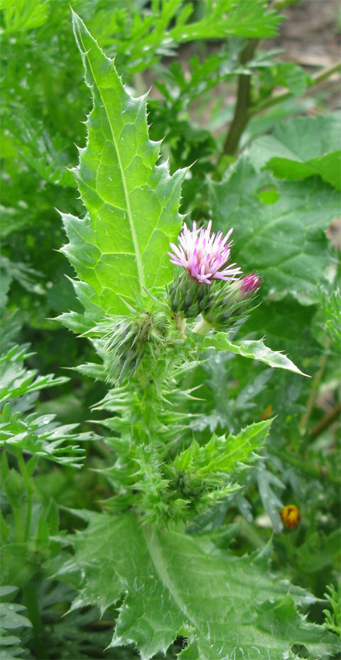
[[[229,350],[232,353],[237,353],[243,357],[251,357],[253,360],[260,360],[265,362],[270,367],[278,367],[279,369],[287,369],[296,374],[303,374],[296,365],[289,360],[286,355],[279,351],[271,350],[268,348],[263,340],[242,340],[239,342],[230,342],[229,336],[225,332],[215,332],[212,335],[197,335],[195,332],[190,332],[190,337],[197,342],[203,350],[215,348],[215,350]]]

